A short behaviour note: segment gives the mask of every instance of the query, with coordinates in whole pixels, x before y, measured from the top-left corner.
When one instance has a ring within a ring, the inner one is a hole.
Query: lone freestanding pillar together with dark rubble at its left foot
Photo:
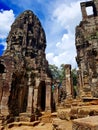
[[[72,73],[71,73],[71,65],[65,64],[64,65],[64,78],[63,78],[61,86],[59,87],[59,103],[63,105],[65,100],[69,101],[72,98],[74,98],[74,88],[73,88],[73,79],[72,79]]]

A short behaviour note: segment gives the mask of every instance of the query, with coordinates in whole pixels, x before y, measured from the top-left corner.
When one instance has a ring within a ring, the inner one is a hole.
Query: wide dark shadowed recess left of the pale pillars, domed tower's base
[[[14,116],[26,112],[28,87],[25,81],[26,79],[22,73],[13,73],[8,107],[10,114]]]

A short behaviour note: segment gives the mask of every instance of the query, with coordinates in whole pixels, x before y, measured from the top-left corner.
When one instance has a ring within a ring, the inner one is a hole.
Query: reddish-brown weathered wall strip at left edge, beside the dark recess
[[[8,97],[11,90],[13,60],[3,56],[0,59],[0,109],[1,113],[8,114]]]

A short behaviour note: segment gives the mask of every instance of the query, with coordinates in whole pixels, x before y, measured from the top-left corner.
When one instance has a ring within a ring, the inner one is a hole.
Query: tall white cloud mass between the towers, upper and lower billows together
[[[61,39],[58,39],[56,44],[56,54],[51,52],[47,53],[47,59],[50,64],[71,64],[73,68],[76,65],[76,49],[75,49],[75,27],[81,21],[80,2],[72,2],[69,5],[62,3],[55,7],[52,15],[52,21],[54,21],[54,30],[60,31],[65,29],[68,32],[62,34]],[[58,32],[59,33],[59,32]]]

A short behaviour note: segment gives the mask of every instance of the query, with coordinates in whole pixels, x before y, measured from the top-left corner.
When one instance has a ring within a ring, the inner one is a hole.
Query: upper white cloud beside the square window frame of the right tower
[[[62,3],[54,10],[53,19],[58,22],[59,26],[74,31],[81,20],[80,2],[82,1],[72,2],[70,5],[66,2]]]

